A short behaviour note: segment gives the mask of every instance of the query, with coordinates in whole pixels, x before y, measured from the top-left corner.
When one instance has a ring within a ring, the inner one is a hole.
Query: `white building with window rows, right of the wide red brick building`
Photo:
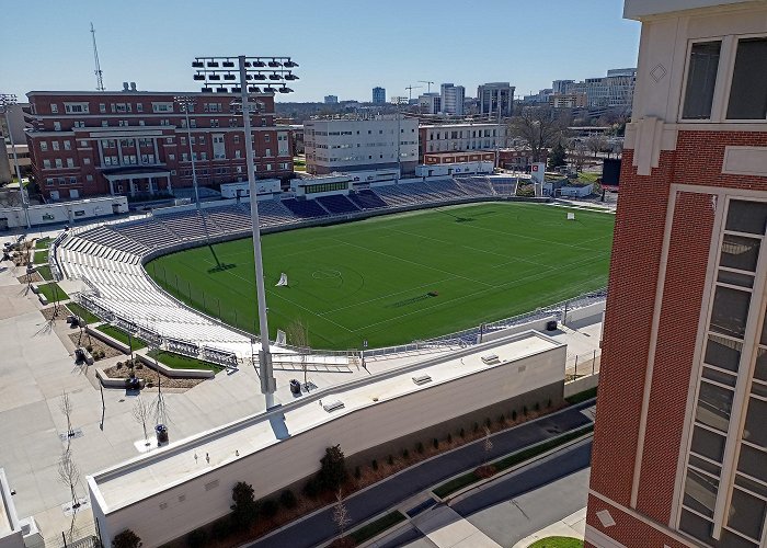
[[[314,175],[398,167],[412,173],[419,160],[417,119],[312,119],[304,124],[304,140],[307,173]]]

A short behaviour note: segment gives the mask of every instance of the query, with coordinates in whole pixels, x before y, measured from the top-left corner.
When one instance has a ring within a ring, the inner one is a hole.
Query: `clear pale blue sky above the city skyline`
[[[95,89],[92,21],[107,90],[195,91],[195,56],[245,54],[299,62],[284,101],[423,85],[415,96],[419,80],[528,94],[636,67],[640,25],[621,11],[621,0],[0,0],[0,92]]]

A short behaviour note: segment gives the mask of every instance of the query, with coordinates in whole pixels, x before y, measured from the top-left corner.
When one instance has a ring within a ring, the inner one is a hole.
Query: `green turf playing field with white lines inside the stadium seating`
[[[313,347],[393,345],[604,287],[614,217],[577,210],[568,221],[568,210],[485,203],[264,236],[271,336],[300,318]],[[218,271],[207,247],[147,271],[195,308],[256,332],[252,240],[214,251]],[[283,272],[289,287],[275,287]]]

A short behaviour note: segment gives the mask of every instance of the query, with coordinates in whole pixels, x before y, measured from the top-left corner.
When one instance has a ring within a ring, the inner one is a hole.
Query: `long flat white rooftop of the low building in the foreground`
[[[317,390],[300,400],[98,472],[89,478],[89,483],[101,498],[102,507],[112,512],[278,443],[275,431],[279,431],[283,424],[287,435],[294,436],[355,410],[562,346],[563,343],[547,335],[526,331],[470,350]],[[497,359],[485,363],[482,356],[490,354],[497,356]],[[423,376],[431,377],[431,381],[416,384],[414,378]],[[317,406],[319,399],[340,400],[344,407],[328,412]],[[204,458],[206,454],[210,456],[209,463]]]

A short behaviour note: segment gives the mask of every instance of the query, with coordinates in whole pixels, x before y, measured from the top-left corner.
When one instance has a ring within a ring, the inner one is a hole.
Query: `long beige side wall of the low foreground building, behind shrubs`
[[[102,539],[108,546],[113,536],[126,528],[136,532],[145,546],[179,538],[228,514],[231,489],[238,481],[251,483],[256,498],[270,495],[319,470],[325,447],[335,444],[340,444],[354,461],[355,455],[367,457],[378,448],[386,454],[420,436],[436,435],[435,426],[454,424],[453,421],[458,424],[459,418],[484,416],[488,409],[528,392],[535,392],[538,398],[550,397],[552,402],[559,403],[565,354],[566,347],[558,346],[391,400],[370,401],[367,407],[297,432],[255,454],[125,507],[106,509],[98,489],[100,481],[108,481],[108,476],[119,473],[118,470],[89,477],[93,514]],[[343,398],[343,387],[323,390],[319,396],[330,400],[336,392]],[[279,410],[265,413],[264,420],[270,416],[282,422]],[[440,431],[440,435],[444,434]],[[140,463],[133,466],[140,466]]]

